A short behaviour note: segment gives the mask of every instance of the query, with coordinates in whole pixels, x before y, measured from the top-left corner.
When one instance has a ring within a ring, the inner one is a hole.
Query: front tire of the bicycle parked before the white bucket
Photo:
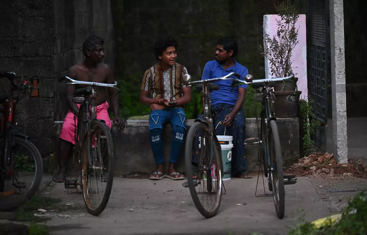
[[[208,129],[208,125],[202,122],[195,122],[189,129],[188,134],[186,136],[185,143],[185,167],[187,173],[187,181],[190,189],[191,198],[196,206],[196,209],[200,212],[200,214],[206,218],[211,218],[218,213],[219,207],[221,205],[222,200],[222,175],[223,175],[223,163],[221,158],[221,146],[217,140],[217,137],[213,135],[213,140],[217,143],[214,145],[214,162],[216,163],[216,171],[217,176],[217,193],[219,193],[219,197],[217,197],[217,201],[215,202],[215,207],[211,211],[207,211],[204,209],[203,205],[201,205],[199,197],[196,194],[194,179],[192,178],[193,170],[192,170],[192,152],[193,152],[193,139],[196,130],[199,127],[203,127],[206,130]],[[220,152],[219,152],[220,151]],[[218,173],[219,172],[219,173]],[[219,184],[219,185],[218,185]]]

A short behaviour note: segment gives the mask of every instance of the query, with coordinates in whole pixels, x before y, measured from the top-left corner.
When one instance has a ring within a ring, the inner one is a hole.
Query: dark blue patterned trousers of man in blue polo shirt
[[[236,176],[240,172],[246,171],[247,164],[246,158],[244,156],[244,145],[243,142],[246,138],[246,130],[245,130],[245,115],[243,113],[243,109],[241,108],[235,115],[232,120],[231,126],[223,126],[223,122],[218,124],[220,121],[224,121],[224,118],[232,112],[234,105],[219,103],[213,105],[212,112],[215,112],[214,118],[214,128],[217,135],[232,135],[233,140],[233,148],[232,148],[232,176]],[[199,116],[198,118],[202,118],[203,116]],[[225,131],[225,133],[224,133]],[[192,162],[198,163],[198,153],[199,153],[199,136],[200,130],[196,131],[196,135],[194,138],[195,144],[193,149]]]

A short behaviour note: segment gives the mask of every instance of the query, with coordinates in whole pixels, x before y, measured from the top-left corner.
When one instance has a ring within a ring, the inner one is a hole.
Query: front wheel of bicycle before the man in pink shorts
[[[88,212],[98,216],[107,206],[114,170],[112,135],[104,122],[92,121],[90,136],[83,141],[81,161],[84,202]]]

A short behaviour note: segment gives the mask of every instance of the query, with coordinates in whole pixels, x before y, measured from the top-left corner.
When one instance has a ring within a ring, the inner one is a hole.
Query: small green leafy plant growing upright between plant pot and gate
[[[307,155],[314,143],[311,139],[312,134],[315,132],[316,127],[321,124],[318,120],[313,119],[312,103],[313,100],[309,96],[307,99],[304,96],[302,100],[299,100],[301,116],[304,122],[303,129],[305,131],[304,137],[302,137],[305,155]]]

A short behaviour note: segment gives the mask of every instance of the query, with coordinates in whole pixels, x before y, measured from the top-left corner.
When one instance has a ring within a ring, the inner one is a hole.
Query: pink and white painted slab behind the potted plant
[[[276,20],[280,20],[279,15],[264,15],[264,37],[265,34],[269,34],[270,37],[276,35],[278,29]],[[299,42],[292,51],[291,59],[294,60],[292,67],[298,67],[294,68],[293,72],[296,74],[295,76],[298,77],[297,86],[298,90],[302,91],[301,97],[303,98],[304,95],[307,97],[306,15],[299,15],[299,19],[295,27],[298,29],[297,39]],[[267,58],[265,58],[265,77],[272,77],[270,73],[270,63]]]

